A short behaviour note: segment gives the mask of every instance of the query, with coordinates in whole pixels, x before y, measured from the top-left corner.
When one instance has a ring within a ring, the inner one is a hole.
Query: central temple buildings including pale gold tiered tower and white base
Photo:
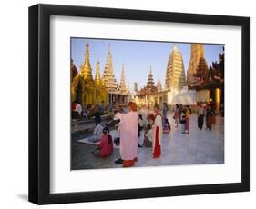
[[[186,83],[183,57],[177,45],[174,45],[168,60],[165,78],[165,88],[162,88],[160,79],[157,86],[154,85],[153,75],[150,69],[147,86],[141,88],[135,97],[140,106],[152,107],[154,104],[196,104],[196,91],[189,90]]]

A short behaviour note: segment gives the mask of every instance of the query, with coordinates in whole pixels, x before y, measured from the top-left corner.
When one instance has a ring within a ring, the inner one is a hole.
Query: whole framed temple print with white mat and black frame
[[[29,7],[29,201],[250,189],[250,19]]]

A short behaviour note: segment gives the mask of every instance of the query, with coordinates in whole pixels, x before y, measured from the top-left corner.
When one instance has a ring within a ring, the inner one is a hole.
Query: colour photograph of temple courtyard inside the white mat
[[[70,169],[225,164],[224,49],[70,37]]]

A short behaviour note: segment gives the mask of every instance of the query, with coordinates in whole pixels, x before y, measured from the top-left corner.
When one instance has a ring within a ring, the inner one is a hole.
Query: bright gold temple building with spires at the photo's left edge
[[[92,68],[89,60],[89,45],[86,43],[86,53],[84,64],[80,65],[80,72],[77,72],[76,66],[71,60],[71,101],[77,101],[83,108],[87,104],[100,104],[101,101],[108,101],[108,92],[106,86],[100,79],[99,62],[97,62],[97,71],[95,80],[92,75]]]

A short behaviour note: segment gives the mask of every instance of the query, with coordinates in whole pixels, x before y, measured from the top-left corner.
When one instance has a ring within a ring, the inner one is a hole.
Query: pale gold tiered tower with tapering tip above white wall
[[[169,55],[165,87],[166,89],[182,89],[186,85],[183,57],[177,45],[173,46]]]

